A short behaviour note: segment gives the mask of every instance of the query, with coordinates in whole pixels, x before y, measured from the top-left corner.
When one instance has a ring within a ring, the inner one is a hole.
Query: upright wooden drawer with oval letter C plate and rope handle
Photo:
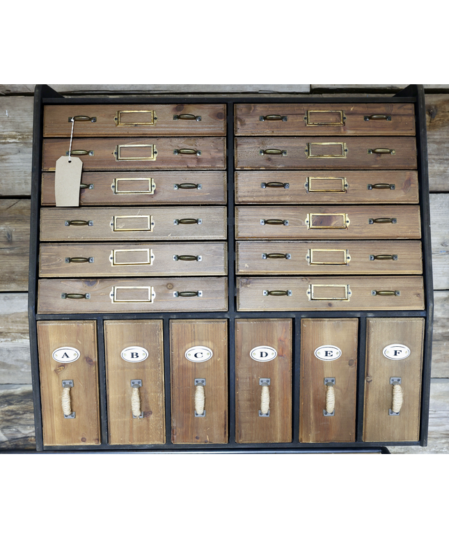
[[[226,444],[227,320],[171,320],[170,362],[173,444]]]

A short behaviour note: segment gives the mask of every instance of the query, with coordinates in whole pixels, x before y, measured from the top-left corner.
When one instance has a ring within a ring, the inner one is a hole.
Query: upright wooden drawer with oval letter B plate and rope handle
[[[164,444],[162,320],[105,320],[104,345],[109,444]]]

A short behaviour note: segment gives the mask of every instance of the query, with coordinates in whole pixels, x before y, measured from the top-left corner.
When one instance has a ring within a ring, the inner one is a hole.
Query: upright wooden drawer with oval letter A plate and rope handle
[[[100,444],[96,325],[37,322],[44,445]]]

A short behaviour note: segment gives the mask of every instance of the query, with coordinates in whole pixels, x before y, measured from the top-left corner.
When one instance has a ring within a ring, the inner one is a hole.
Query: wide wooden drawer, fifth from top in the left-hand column
[[[41,277],[226,275],[227,268],[223,242],[40,244]]]

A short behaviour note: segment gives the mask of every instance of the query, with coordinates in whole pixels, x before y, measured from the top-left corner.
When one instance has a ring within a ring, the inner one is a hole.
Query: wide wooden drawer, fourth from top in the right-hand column
[[[421,237],[419,206],[240,206],[235,208],[235,228],[237,239],[389,240]]]

